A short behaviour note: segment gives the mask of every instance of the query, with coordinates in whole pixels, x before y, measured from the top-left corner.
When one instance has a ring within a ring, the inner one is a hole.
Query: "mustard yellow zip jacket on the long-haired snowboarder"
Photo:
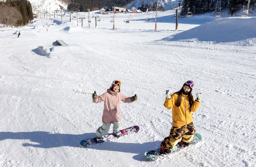
[[[172,94],[170,99],[165,98],[164,106],[169,110],[172,109],[172,126],[181,127],[193,121],[192,112],[199,108],[200,102],[194,101],[191,111],[189,111],[188,96],[181,93],[181,104],[179,107],[175,105],[177,98],[178,93]]]

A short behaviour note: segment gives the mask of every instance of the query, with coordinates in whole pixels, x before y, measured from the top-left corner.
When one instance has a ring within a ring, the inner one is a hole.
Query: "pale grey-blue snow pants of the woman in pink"
[[[122,122],[114,122],[113,124],[113,132],[116,133],[119,130],[122,129]],[[96,131],[95,137],[102,137],[103,135],[106,135],[109,131],[111,124],[103,124],[101,127],[99,127]]]

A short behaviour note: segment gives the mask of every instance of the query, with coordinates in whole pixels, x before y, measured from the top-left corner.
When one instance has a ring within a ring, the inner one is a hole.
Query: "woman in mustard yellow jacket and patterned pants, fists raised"
[[[183,87],[172,95],[170,89],[166,90],[164,106],[169,110],[172,109],[172,127],[170,135],[165,137],[161,143],[161,154],[170,154],[171,149],[180,141],[188,146],[193,140],[195,127],[192,112],[199,108],[202,99],[201,94],[197,93],[194,101],[191,93],[193,87],[193,81],[186,81]]]

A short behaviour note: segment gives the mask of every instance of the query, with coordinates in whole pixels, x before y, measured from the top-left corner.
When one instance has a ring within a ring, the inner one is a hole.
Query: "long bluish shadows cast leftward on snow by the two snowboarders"
[[[87,138],[94,137],[95,133],[85,134],[60,134],[50,132],[0,132],[0,141],[7,139],[14,140],[30,140],[31,142],[25,142],[22,145],[32,146],[36,148],[57,148],[61,146],[80,147],[80,141]],[[132,134],[136,135],[136,134]],[[126,136],[124,136],[126,137]],[[160,146],[161,141],[146,142],[146,143],[119,143],[115,140],[99,143],[88,147],[87,149],[117,151],[126,153],[136,153],[138,155],[133,156],[133,159],[138,161],[146,161],[144,153],[149,150],[155,149],[154,146]],[[81,148],[84,149],[84,148]]]

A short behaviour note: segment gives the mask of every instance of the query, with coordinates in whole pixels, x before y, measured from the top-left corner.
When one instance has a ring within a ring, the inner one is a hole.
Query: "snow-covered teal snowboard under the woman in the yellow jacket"
[[[202,140],[202,137],[199,133],[195,133],[192,142],[190,142],[190,145],[196,144]],[[189,145],[189,146],[190,146]],[[172,152],[179,151],[180,149],[184,148],[185,145],[182,142],[179,142],[174,148],[172,149]],[[163,156],[163,154],[159,153],[160,148],[156,148],[155,150],[147,151],[145,152],[145,156],[150,161],[155,161],[159,156]]]

